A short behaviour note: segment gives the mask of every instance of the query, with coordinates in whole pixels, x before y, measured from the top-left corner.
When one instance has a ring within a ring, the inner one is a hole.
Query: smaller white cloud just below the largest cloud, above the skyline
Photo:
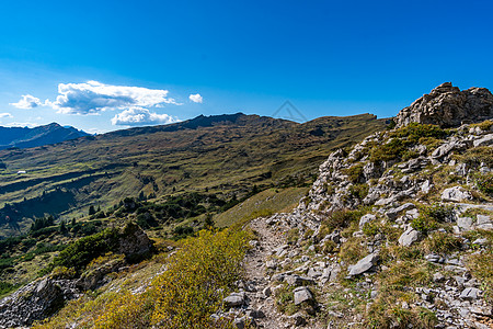
[[[116,114],[112,118],[113,125],[123,126],[144,126],[144,125],[159,125],[159,124],[170,124],[179,122],[176,117],[170,116],[168,114],[158,114],[150,112],[144,107],[131,107]]]

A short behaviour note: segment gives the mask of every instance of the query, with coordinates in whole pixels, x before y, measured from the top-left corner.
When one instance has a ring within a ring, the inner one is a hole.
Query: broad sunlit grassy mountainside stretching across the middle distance
[[[370,114],[320,117],[305,124],[256,115],[219,118],[0,151],[8,168],[0,171],[0,236],[25,231],[31,223],[26,218],[39,216],[30,208],[38,209],[36,204],[54,198],[57,189],[67,194],[50,213],[70,218],[87,214],[91,204],[111,206],[140,192],[159,198],[207,189],[227,197],[242,195],[253,184],[309,182],[334,148],[347,147],[385,126]],[[27,173],[16,174],[19,170]],[[2,212],[5,203],[18,203],[23,211]]]

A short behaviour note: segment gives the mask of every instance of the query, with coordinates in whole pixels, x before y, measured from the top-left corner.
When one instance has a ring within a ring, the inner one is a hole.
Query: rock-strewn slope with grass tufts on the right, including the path
[[[474,120],[491,118],[479,107]],[[462,120],[433,111],[440,126]],[[493,123],[443,129],[406,112],[330,155],[295,211],[252,222],[251,286],[229,305],[238,328],[493,328]]]

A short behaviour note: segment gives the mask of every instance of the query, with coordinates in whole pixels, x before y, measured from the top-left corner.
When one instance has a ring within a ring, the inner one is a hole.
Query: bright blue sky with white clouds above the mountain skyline
[[[493,88],[492,1],[1,1],[0,125],[393,116]],[[279,115],[283,115],[279,113]]]

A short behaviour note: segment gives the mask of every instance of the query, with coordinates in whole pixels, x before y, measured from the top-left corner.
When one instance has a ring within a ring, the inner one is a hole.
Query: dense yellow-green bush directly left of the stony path
[[[214,328],[210,315],[241,277],[245,232],[200,231],[187,239],[153,282],[152,322],[161,328]]]

